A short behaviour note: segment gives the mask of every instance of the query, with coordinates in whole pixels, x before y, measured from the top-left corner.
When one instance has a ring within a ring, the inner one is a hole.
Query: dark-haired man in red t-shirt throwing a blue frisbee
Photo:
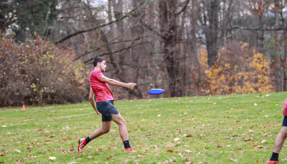
[[[95,130],[87,138],[79,139],[78,151],[81,152],[86,144],[88,144],[91,140],[94,140],[95,138],[108,133],[111,129],[112,121],[114,121],[118,124],[120,137],[124,143],[124,150],[128,152],[135,152],[135,150],[133,150],[129,144],[129,135],[126,129],[126,121],[122,118],[116,107],[114,107],[114,96],[108,84],[130,89],[133,89],[133,87],[137,84],[123,83],[103,76],[102,72],[105,72],[105,68],[107,66],[106,60],[102,57],[95,57],[93,63],[95,69],[90,73],[91,87],[89,100],[97,114],[102,116],[103,126]],[[95,95],[96,103],[94,100]]]

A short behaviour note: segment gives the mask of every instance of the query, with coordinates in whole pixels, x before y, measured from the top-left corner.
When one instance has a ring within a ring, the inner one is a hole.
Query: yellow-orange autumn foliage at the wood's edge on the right
[[[223,47],[216,64],[204,71],[206,85],[200,91],[214,95],[272,92],[269,74],[270,67],[264,54],[247,43],[237,49]]]

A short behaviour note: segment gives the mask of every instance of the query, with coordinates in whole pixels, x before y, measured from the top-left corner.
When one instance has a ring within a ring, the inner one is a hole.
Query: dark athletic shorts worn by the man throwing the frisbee
[[[112,120],[111,114],[120,113],[114,106],[113,100],[96,102],[97,110],[102,114],[102,122],[107,122]]]

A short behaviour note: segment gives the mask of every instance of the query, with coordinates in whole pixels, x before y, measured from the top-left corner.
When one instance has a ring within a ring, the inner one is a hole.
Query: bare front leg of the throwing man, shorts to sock
[[[119,126],[120,137],[122,141],[129,140],[128,130],[126,129],[126,121],[120,114],[112,114],[112,121],[116,122]]]

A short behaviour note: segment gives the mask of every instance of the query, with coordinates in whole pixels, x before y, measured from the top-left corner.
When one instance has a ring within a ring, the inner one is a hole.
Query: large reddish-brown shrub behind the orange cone
[[[0,107],[84,101],[88,72],[75,55],[41,37],[19,45],[1,35]]]

